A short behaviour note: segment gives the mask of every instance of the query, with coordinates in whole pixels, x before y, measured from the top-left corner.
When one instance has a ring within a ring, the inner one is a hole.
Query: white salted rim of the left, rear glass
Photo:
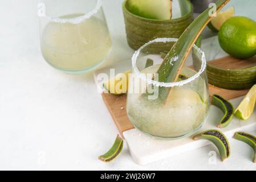
[[[43,0],[40,0],[40,2],[42,2],[42,1]],[[97,0],[97,4],[96,4],[95,8],[83,16],[78,16],[76,18],[58,18],[58,17],[51,17],[51,16],[45,15],[44,18],[47,18],[48,20],[50,20],[51,22],[54,22],[54,23],[78,24],[78,23],[83,22],[83,20],[85,20],[85,19],[91,18],[92,15],[96,14],[99,11],[100,7],[101,7],[101,0]]]

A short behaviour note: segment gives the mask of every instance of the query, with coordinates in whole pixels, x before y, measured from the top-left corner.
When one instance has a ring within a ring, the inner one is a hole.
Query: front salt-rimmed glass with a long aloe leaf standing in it
[[[204,124],[209,113],[205,55],[195,45],[194,56],[201,59],[195,59],[196,62],[190,67],[184,66],[177,82],[157,81],[156,72],[164,53],[152,53],[147,48],[153,43],[174,44],[176,41],[172,38],[152,40],[139,48],[132,57],[128,118],[140,131],[161,139],[177,139],[193,134]],[[145,68],[149,59],[154,64]],[[188,59],[192,60],[191,55]],[[170,64],[172,61],[175,59],[170,60]],[[162,88],[170,88],[168,100],[160,97]]]

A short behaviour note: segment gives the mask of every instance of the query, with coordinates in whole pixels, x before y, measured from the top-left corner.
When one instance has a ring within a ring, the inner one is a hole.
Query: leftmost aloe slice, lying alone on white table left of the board
[[[116,140],[113,143],[113,146],[105,154],[99,156],[98,159],[105,163],[112,162],[121,153],[123,149],[123,144],[123,139],[119,137],[119,135],[117,135]]]

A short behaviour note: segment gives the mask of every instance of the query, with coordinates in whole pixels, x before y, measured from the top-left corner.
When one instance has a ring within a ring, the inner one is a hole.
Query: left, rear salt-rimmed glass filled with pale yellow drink
[[[100,0],[42,0],[38,14],[42,55],[52,67],[83,73],[107,58],[111,38]]]

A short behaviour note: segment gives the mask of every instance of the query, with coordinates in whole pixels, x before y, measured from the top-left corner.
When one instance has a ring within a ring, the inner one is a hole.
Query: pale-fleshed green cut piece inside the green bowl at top
[[[144,18],[172,18],[171,0],[128,0],[127,7],[131,13]]]

